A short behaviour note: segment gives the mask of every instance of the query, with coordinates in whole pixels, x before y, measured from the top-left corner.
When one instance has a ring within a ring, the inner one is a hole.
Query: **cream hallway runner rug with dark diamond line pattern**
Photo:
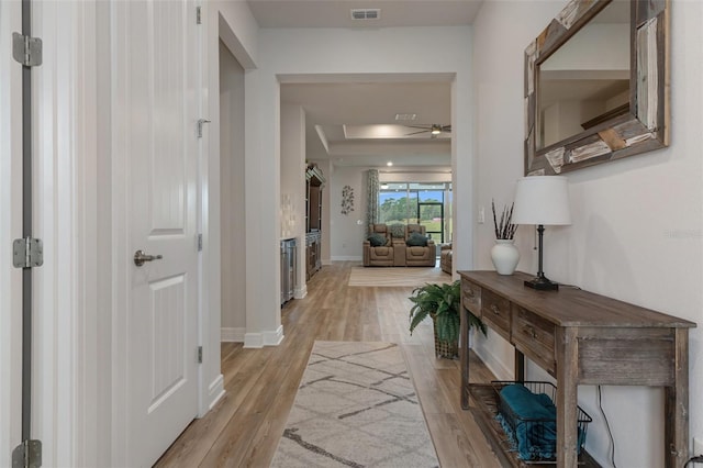
[[[398,345],[315,342],[272,467],[438,467]]]

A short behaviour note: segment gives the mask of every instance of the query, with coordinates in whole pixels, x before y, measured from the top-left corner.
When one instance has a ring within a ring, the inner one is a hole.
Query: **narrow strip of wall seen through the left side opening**
[[[244,341],[246,227],[244,209],[244,69],[220,42],[220,225],[222,339]]]

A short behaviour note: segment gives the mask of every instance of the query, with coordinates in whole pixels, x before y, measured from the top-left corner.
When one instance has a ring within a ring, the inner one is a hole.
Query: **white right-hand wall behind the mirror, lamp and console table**
[[[523,52],[565,2],[488,0],[475,24],[477,203],[510,202],[523,174]],[[558,281],[703,322],[703,3],[671,5],[671,145],[567,175],[573,224],[548,227],[545,271]],[[516,20],[520,21],[510,21]],[[469,177],[468,174],[457,177]],[[492,268],[492,224],[477,224],[478,268]],[[532,230],[521,227],[518,268],[536,271]],[[691,331],[690,428],[703,437],[702,332]],[[512,349],[492,334],[477,352],[499,377],[512,377]],[[542,375],[531,366],[531,377]],[[588,448],[609,459],[609,441],[592,387],[579,401],[594,419]],[[659,467],[663,457],[662,391],[604,387],[603,406],[623,467]]]

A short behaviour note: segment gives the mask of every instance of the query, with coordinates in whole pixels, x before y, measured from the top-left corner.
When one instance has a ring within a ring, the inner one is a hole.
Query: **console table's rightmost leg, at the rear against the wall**
[[[676,328],[673,386],[665,387],[665,466],[682,467],[689,458],[689,328]]]

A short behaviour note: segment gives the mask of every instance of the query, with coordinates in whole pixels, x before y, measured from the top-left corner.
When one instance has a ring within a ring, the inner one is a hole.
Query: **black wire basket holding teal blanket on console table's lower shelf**
[[[533,394],[546,395],[551,405],[555,404],[557,388],[551,382],[542,381],[501,381],[491,382],[498,393],[498,420],[505,430],[505,433],[513,448],[518,452],[518,458],[524,461],[545,463],[556,460],[557,442],[557,420],[556,411],[554,416],[546,417],[524,417],[515,413],[505,401],[501,390],[510,385],[522,385]],[[547,401],[545,397],[539,397]],[[585,444],[588,425],[593,420],[581,406],[577,406],[577,449],[581,453]]]

